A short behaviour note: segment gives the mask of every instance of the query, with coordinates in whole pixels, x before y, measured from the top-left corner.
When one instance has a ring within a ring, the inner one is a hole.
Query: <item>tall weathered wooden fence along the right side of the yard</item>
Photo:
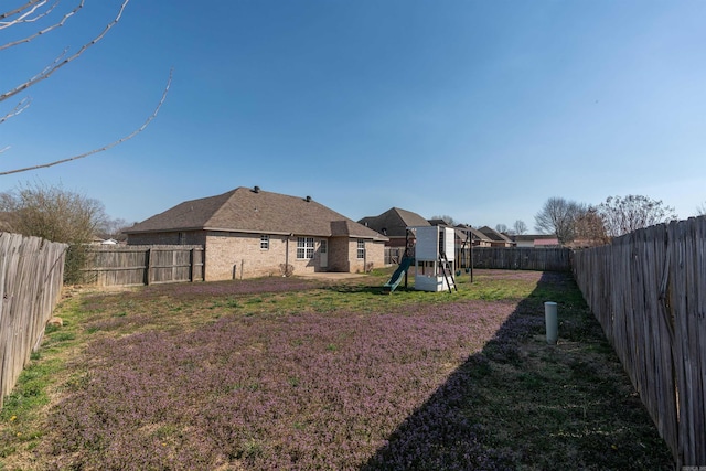
[[[706,217],[577,251],[574,276],[677,469],[706,467]]]

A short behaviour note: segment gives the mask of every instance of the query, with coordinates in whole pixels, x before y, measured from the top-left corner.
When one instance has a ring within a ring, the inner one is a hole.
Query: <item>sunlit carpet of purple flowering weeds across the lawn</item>
[[[98,340],[87,354],[103,366],[51,417],[54,464],[359,469],[513,308],[228,317],[195,332]],[[452,396],[453,384],[437,394]],[[429,419],[419,433],[443,432],[449,417]],[[479,451],[470,424],[446,427],[468,438],[464,453]]]

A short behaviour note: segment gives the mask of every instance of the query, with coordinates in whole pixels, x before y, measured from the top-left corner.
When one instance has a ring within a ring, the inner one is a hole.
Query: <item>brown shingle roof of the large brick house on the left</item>
[[[386,240],[375,231],[310,197],[244,186],[216,196],[185,201],[136,224],[125,233],[197,229]]]

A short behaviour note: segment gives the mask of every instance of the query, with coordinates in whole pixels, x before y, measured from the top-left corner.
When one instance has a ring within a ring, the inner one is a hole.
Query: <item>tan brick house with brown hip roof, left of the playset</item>
[[[365,271],[384,265],[387,242],[310,196],[258,186],[186,201],[124,232],[128,245],[202,245],[206,281]]]

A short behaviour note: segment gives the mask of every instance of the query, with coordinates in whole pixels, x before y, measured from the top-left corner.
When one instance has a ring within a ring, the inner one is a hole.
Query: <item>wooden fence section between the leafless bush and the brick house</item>
[[[86,282],[101,287],[203,281],[201,245],[90,246]]]

